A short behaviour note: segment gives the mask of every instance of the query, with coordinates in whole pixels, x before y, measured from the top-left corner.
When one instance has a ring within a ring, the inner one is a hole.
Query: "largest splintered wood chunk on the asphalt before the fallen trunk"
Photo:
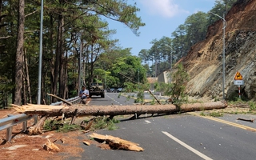
[[[102,134],[89,134],[90,138],[94,138],[96,141],[101,140],[106,142],[111,149],[114,150],[131,150],[131,151],[143,151],[144,149],[139,146],[138,143],[126,141],[122,138],[117,138],[111,135],[102,135]]]

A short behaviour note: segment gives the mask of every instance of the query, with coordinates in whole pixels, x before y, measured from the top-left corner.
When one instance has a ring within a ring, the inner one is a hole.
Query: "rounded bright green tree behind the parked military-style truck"
[[[100,54],[95,62],[93,74],[94,82],[95,76],[98,76],[101,82],[106,79],[107,88],[125,87],[130,90],[133,88],[130,84],[138,86],[138,81],[146,82],[146,69],[142,66],[142,60],[131,55],[130,48],[116,48]]]

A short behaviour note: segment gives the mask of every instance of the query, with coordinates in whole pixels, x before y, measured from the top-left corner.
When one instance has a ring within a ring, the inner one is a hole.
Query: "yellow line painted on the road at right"
[[[197,114],[197,113],[190,113],[190,114],[201,117],[201,118],[210,119],[210,120],[213,120],[213,121],[216,121],[216,122],[222,122],[222,123],[225,123],[225,124],[230,125],[230,126],[236,126],[236,127],[241,128],[243,130],[250,130],[250,131],[256,132],[256,128],[252,128],[250,126],[240,125],[240,124],[235,123],[235,122],[228,122],[228,121],[225,121],[225,120],[222,120],[222,119],[219,119],[219,118],[213,118],[213,117],[209,117],[209,116],[202,116],[202,115]]]

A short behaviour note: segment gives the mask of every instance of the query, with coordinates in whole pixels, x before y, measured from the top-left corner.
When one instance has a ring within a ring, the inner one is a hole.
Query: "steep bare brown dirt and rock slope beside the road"
[[[226,14],[225,93],[238,95],[234,75],[239,71],[245,81],[242,94],[256,93],[256,0],[239,0]],[[206,40],[192,46],[183,64],[190,74],[187,93],[193,97],[222,99],[223,22],[208,27]]]

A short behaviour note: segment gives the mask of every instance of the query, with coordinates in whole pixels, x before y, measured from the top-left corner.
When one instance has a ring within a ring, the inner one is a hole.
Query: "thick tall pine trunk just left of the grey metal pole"
[[[18,33],[17,33],[17,50],[16,50],[16,69],[15,69],[15,94],[14,104],[22,103],[22,67],[23,67],[23,45],[24,45],[24,22],[25,22],[25,0],[18,1]]]

